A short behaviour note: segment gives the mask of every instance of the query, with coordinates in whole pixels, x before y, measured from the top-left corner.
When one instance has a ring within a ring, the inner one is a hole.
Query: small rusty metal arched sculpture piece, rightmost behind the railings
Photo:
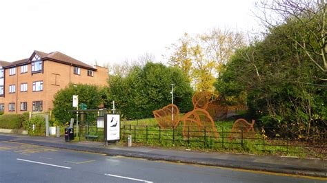
[[[240,118],[234,122],[232,125],[232,131],[230,131],[229,139],[238,138],[254,138],[255,137],[255,120],[252,123]]]

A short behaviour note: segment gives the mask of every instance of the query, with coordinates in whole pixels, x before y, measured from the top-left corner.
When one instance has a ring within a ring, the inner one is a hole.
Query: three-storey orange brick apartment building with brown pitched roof
[[[107,79],[107,68],[92,67],[61,52],[34,51],[20,61],[0,61],[0,111],[48,111],[54,94],[69,83],[107,85]]]

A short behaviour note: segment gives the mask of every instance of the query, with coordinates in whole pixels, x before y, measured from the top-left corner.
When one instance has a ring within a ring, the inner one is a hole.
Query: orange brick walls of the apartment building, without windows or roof
[[[107,85],[108,69],[98,67],[94,76],[88,76],[88,69],[81,69],[81,74],[74,74],[74,67],[56,63],[53,61],[43,61],[43,72],[31,74],[31,64],[28,64],[28,72],[21,74],[21,66],[16,67],[16,74],[9,76],[9,69],[5,70],[5,97],[0,97],[0,103],[5,104],[6,114],[21,114],[20,103],[27,102],[27,111],[32,111],[33,101],[43,101],[43,111],[53,108],[54,94],[63,89],[69,83],[83,83],[93,85]],[[43,91],[32,92],[34,81],[43,81]],[[28,91],[20,92],[21,83],[28,83]],[[16,92],[9,94],[9,86],[16,85]],[[15,103],[15,111],[9,111],[9,103]]]

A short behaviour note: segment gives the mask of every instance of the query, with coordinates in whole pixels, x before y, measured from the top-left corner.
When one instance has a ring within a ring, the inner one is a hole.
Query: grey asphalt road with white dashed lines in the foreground
[[[0,141],[0,182],[326,182],[319,177],[158,162]]]

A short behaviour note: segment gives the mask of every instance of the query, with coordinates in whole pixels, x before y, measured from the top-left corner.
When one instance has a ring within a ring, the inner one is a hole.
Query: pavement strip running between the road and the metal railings
[[[168,162],[201,164],[231,169],[268,171],[273,173],[327,178],[327,160],[315,158],[306,159],[281,157],[277,155],[202,152],[155,147],[126,147],[120,144],[108,144],[106,147],[103,142],[66,142],[63,137],[23,136],[5,133],[0,133],[0,140],[60,149],[103,153],[106,155],[145,158],[147,160],[164,160]]]

